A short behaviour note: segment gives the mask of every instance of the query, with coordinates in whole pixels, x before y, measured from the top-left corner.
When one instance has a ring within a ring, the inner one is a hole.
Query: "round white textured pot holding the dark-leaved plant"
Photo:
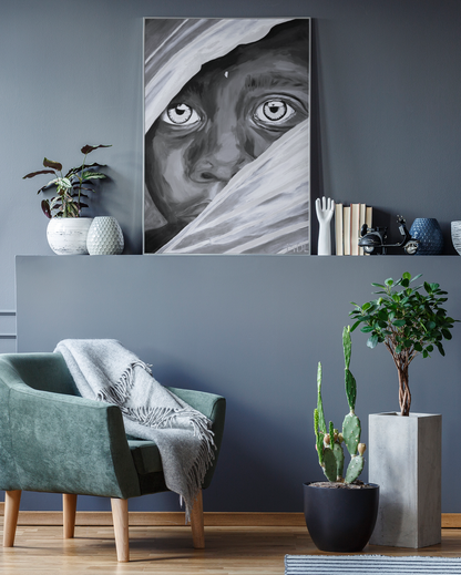
[[[93,218],[53,217],[47,227],[47,239],[59,256],[88,254],[86,236]]]

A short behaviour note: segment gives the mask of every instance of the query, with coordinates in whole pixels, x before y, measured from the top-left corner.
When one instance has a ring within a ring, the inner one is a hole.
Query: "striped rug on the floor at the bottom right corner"
[[[285,575],[461,575],[461,558],[286,555]]]

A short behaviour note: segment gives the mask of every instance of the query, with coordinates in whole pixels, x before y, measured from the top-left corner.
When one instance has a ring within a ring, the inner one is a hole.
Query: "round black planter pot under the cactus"
[[[304,484],[307,530],[320,551],[360,552],[373,532],[379,485],[367,489],[328,489]]]

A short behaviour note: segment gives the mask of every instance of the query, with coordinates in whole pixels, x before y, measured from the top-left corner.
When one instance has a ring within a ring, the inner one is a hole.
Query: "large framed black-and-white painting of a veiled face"
[[[310,18],[144,19],[144,254],[310,254]]]

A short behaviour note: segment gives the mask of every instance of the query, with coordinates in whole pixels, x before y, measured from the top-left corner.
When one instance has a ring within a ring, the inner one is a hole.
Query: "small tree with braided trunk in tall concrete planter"
[[[404,273],[398,280],[371,284],[379,288],[378,298],[361,306],[352,302],[349,314],[355,319],[351,331],[361,326],[369,348],[385,343],[399,379],[400,412],[369,415],[369,481],[381,487],[371,537],[377,545],[418,548],[441,541],[442,417],[410,413],[409,366],[436,349],[444,356],[442,342],[451,339],[455,320],[443,307],[447,291],[439,284],[412,287],[420,277]]]

